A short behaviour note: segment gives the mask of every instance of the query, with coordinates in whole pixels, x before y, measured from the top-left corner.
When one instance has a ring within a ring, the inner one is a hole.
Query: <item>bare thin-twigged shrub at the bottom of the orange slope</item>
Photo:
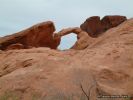
[[[94,75],[85,69],[73,69],[74,84],[79,87],[79,91],[82,93],[81,100],[90,100],[92,97],[97,97],[98,83]]]

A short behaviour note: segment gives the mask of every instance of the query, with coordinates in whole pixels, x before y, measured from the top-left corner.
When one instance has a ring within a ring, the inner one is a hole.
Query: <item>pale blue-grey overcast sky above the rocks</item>
[[[0,36],[52,20],[57,31],[94,15],[133,16],[133,0],[0,0]]]

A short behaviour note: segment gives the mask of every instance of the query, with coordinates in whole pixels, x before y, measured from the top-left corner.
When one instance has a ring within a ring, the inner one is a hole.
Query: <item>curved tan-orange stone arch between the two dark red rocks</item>
[[[82,49],[85,49],[86,47],[88,47],[90,37],[88,36],[88,34],[85,31],[81,30],[78,27],[63,29],[60,32],[56,33],[54,38],[60,39],[61,37],[65,36],[67,34],[70,34],[70,33],[77,34],[77,41],[74,44],[74,46],[71,47],[71,49],[82,50]]]

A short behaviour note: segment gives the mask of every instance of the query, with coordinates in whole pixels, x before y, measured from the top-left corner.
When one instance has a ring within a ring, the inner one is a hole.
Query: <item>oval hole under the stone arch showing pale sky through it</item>
[[[67,50],[74,46],[77,41],[77,34],[70,33],[61,37],[60,45],[58,46],[59,50]]]

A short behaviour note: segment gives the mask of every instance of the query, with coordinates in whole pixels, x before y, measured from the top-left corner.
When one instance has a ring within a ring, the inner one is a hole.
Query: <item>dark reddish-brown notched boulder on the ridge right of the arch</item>
[[[126,20],[127,18],[125,16],[105,16],[101,20],[99,16],[93,16],[88,18],[80,28],[86,31],[91,37],[97,37],[101,33],[120,25]]]

